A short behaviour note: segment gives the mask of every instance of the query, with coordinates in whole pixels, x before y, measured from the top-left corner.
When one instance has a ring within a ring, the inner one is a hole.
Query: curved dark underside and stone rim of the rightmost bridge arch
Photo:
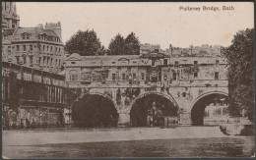
[[[190,106],[192,125],[203,126],[206,107],[216,102],[227,104],[227,98],[228,93],[224,91],[211,91],[198,96]]]

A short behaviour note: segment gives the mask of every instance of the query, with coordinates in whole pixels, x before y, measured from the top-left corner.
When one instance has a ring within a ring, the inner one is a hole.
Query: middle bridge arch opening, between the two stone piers
[[[130,109],[133,127],[177,125],[178,105],[175,100],[159,92],[148,92],[136,98]]]

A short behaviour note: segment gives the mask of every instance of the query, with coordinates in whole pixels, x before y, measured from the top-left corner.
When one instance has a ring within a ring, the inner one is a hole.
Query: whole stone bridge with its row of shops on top
[[[226,60],[220,51],[219,54],[193,54],[189,49],[170,47],[162,52],[158,46],[154,47],[141,49],[140,55],[80,56],[74,53],[65,61],[67,87],[82,90],[76,101],[95,94],[109,99],[119,115],[119,125],[136,126],[133,124],[139,121],[140,114],[134,113],[137,111],[133,108],[144,97],[152,95],[164,97],[176,107],[173,112],[177,114],[172,115],[177,115],[180,125],[202,125],[206,106],[216,103],[217,99],[226,101]]]

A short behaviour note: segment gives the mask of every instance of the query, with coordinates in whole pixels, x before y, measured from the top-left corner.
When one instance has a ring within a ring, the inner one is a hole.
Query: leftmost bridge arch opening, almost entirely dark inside
[[[116,127],[118,122],[116,104],[100,93],[81,95],[74,102],[72,113],[76,127]]]

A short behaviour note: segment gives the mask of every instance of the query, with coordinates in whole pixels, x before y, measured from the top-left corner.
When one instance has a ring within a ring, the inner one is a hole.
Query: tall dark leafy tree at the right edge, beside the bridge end
[[[228,68],[229,111],[238,116],[242,109],[254,119],[254,28],[240,30],[232,44],[223,49]]]

